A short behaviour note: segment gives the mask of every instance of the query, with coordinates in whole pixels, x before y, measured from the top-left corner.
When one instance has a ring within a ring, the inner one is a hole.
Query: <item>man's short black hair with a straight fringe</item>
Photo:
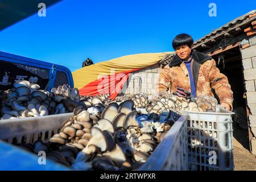
[[[191,47],[193,43],[194,43],[194,40],[191,35],[179,34],[175,36],[174,40],[172,40],[172,47],[174,49],[184,45]]]

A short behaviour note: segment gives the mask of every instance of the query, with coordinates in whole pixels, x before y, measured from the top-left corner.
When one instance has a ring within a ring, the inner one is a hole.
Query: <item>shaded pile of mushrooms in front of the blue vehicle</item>
[[[15,82],[14,87],[2,96],[1,119],[38,117],[43,115],[69,113],[78,105],[79,91],[68,85],[52,88],[49,93],[40,86],[26,80]]]

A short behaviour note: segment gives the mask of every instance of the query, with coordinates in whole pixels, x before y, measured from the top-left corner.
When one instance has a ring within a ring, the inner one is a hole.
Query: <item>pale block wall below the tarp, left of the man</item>
[[[146,93],[149,98],[155,94],[156,84],[158,83],[159,73],[162,68],[159,64],[154,64],[151,67],[143,68],[130,74],[127,80],[127,89],[123,89],[122,95],[138,94],[140,92]]]

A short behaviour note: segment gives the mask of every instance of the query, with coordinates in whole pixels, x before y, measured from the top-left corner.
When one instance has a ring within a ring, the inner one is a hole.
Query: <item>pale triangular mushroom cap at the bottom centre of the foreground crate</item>
[[[118,144],[115,144],[112,151],[104,152],[102,155],[105,156],[106,158],[118,162],[118,164],[120,165],[126,161],[125,153]]]

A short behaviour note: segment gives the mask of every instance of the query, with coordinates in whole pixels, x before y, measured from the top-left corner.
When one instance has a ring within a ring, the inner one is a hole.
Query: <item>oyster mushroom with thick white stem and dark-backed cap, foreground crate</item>
[[[92,151],[89,150],[89,146],[93,144],[100,148],[102,152],[112,151],[115,142],[113,136],[108,131],[101,131],[97,127],[92,127],[90,130],[92,138],[89,140],[87,146],[82,150],[85,154],[91,154]]]

